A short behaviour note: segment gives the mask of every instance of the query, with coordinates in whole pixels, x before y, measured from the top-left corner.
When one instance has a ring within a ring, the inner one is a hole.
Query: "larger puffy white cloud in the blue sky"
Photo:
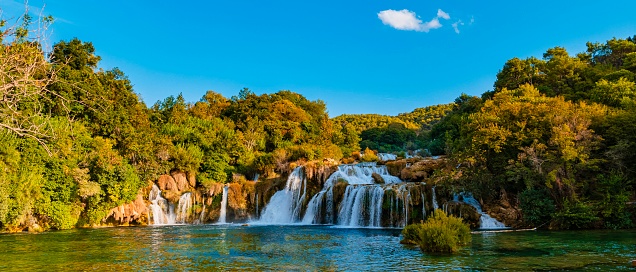
[[[449,20],[450,15],[441,9],[437,10],[437,16],[428,22],[422,22],[415,12],[408,9],[393,10],[387,9],[378,12],[378,18],[383,24],[398,30],[429,32],[431,29],[442,27],[439,19]]]

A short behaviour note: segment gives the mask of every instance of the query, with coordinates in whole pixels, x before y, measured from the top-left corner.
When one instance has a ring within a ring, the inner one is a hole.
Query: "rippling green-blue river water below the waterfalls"
[[[455,255],[399,244],[399,230],[167,226],[0,235],[0,271],[634,270],[636,230],[474,234]]]

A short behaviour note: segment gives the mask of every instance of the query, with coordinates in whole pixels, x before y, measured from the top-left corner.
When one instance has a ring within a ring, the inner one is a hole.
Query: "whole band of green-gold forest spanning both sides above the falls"
[[[206,187],[366,148],[447,155],[458,167],[440,182],[519,206],[528,225],[633,226],[636,37],[513,58],[482,97],[331,119],[322,101],[291,91],[148,107],[123,71],[98,68],[90,42],[44,52],[23,19],[0,31],[1,230],[98,225],[172,171]]]

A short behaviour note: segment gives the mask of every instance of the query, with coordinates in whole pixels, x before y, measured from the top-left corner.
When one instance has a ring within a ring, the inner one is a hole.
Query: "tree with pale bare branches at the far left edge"
[[[42,33],[29,29],[31,20],[27,12],[20,26],[7,27],[0,19],[0,130],[34,139],[50,154],[42,98],[57,81],[57,71],[42,51]],[[41,21],[46,28],[52,18]]]

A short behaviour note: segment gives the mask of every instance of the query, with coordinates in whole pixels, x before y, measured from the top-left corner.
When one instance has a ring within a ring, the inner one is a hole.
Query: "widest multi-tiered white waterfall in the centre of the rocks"
[[[384,180],[384,185],[375,184],[373,174],[378,174]],[[339,207],[334,203],[334,187],[338,182],[346,182],[346,189]],[[349,227],[382,227],[382,204],[385,201],[385,191],[390,191],[392,185],[401,183],[398,177],[391,176],[386,166],[375,163],[359,163],[355,165],[340,165],[338,171],[331,174],[322,191],[309,201],[307,211],[303,217],[304,224],[337,224]],[[396,201],[397,194],[387,199],[391,208]],[[407,201],[408,200],[404,200]],[[399,214],[405,212],[397,211]],[[389,211],[390,225],[393,226],[393,212]],[[401,216],[404,218],[404,216]],[[402,225],[400,223],[399,225]]]

